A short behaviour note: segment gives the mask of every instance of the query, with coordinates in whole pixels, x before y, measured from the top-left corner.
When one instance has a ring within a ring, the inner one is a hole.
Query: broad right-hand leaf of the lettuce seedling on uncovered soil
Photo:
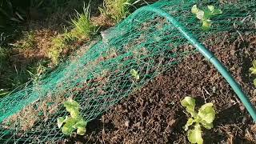
[[[205,121],[207,123],[214,122],[215,110],[213,106],[213,103],[206,103],[198,110],[198,116],[202,119],[202,121]]]

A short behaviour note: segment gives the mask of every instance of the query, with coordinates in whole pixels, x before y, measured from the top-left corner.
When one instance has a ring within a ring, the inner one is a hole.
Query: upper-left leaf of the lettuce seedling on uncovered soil
[[[195,99],[192,97],[185,97],[182,100],[182,106],[186,107],[186,111],[194,117],[196,114],[194,112]]]

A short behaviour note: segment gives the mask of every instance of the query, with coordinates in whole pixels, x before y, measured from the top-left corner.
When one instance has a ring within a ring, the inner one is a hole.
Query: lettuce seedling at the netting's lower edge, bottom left
[[[58,128],[62,127],[62,133],[67,135],[71,135],[74,130],[77,130],[77,134],[79,135],[86,134],[87,122],[80,115],[78,102],[69,99],[64,102],[64,106],[66,107],[66,111],[70,113],[70,116],[66,116],[66,118],[59,117],[57,119]]]

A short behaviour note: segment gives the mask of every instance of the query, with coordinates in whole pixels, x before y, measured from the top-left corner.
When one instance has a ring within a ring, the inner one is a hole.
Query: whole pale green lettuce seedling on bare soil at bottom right
[[[215,118],[215,110],[213,108],[213,103],[206,103],[201,106],[201,108],[196,112],[194,110],[195,99],[191,97],[186,97],[182,100],[182,106],[186,107],[186,111],[191,115],[191,118],[188,119],[184,129],[187,131],[187,138],[191,143],[202,144],[202,130],[201,127],[205,127],[207,130],[210,130],[214,127],[213,122]],[[190,126],[193,126],[194,129],[189,130]]]

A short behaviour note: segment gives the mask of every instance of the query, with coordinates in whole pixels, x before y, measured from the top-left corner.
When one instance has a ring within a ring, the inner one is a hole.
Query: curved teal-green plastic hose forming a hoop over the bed
[[[154,6],[144,6],[141,9],[136,10],[130,20],[133,21],[134,17],[143,11],[151,11],[159,14],[162,17],[166,18],[172,25],[174,25],[179,30],[179,32],[182,33],[184,37],[215,66],[218,72],[222,74],[222,77],[224,77],[226,81],[230,84],[234,92],[238,95],[238,98],[240,98],[240,100],[242,101],[243,105],[246,106],[246,109],[248,110],[250,116],[254,119],[254,122],[256,122],[256,110],[250,102],[250,99],[242,91],[241,86],[239,86],[238,82],[234,80],[230,72],[226,70],[226,67],[222,65],[222,62],[218,61],[218,58],[216,58],[214,54],[206,48],[206,46],[202,45],[202,43],[199,42],[198,39],[194,38],[193,34],[186,30],[186,28],[182,26],[182,24],[178,22],[173,16]]]

